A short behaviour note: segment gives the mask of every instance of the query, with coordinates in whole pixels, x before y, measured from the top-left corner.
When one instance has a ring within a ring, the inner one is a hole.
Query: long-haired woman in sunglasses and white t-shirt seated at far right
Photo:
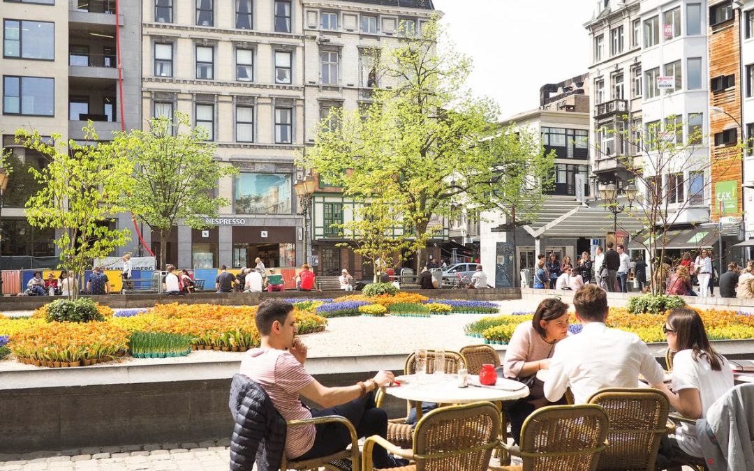
[[[706,417],[710,405],[733,387],[730,363],[710,345],[702,319],[695,310],[688,307],[671,310],[663,332],[670,350],[676,351],[673,391],[664,390],[670,405],[694,421]],[[683,423],[676,428],[675,435],[663,440],[657,468],[680,466],[700,457],[703,454],[696,427]]]

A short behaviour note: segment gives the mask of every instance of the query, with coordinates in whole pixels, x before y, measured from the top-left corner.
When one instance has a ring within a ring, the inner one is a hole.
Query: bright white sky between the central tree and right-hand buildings
[[[539,88],[587,72],[584,23],[596,0],[433,0],[459,52],[474,62],[475,96],[498,102],[501,118],[539,107]]]

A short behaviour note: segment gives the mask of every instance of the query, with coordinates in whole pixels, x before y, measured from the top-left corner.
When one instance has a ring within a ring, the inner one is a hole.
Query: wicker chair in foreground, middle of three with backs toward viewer
[[[521,446],[504,445],[523,466],[495,471],[593,471],[605,450],[608,414],[599,405],[548,405],[527,417]]]

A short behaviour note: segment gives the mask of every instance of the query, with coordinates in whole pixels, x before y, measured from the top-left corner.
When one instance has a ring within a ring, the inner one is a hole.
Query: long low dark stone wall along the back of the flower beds
[[[476,299],[480,301],[502,301],[520,299],[519,289],[412,289],[430,298]],[[180,304],[220,304],[225,306],[256,305],[268,298],[337,298],[359,292],[337,291],[284,291],[284,292],[200,292],[185,296],[157,294],[98,295],[90,296],[94,301],[113,308],[154,307],[155,304],[178,302]],[[35,310],[60,296],[5,296],[0,298],[0,312],[11,310]]]

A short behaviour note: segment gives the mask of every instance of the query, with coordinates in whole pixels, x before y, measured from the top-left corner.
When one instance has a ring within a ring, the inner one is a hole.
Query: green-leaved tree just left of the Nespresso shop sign
[[[130,204],[136,219],[160,234],[160,265],[167,263],[167,244],[179,221],[194,229],[212,227],[204,217],[216,217],[220,206],[230,202],[215,197],[219,179],[238,173],[235,167],[216,161],[215,145],[198,126],[189,132],[189,117],[176,113],[175,124],[168,118],[153,118],[149,130],[117,133],[112,148],[133,162],[133,189]]]

